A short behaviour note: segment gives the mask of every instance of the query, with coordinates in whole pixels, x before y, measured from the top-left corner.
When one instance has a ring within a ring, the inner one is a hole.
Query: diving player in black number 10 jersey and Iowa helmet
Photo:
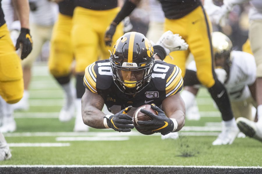
[[[140,129],[162,135],[179,131],[185,124],[185,104],[179,93],[183,88],[181,70],[176,65],[156,60],[164,59],[178,46],[184,50],[188,47],[170,31],[164,33],[155,46],[138,32],[121,36],[109,59],[86,67],[83,122],[93,128],[130,132],[134,128],[132,115],[136,108],[151,104],[158,117],[141,110],[152,120],[139,121]],[[114,115],[101,111],[104,104]]]

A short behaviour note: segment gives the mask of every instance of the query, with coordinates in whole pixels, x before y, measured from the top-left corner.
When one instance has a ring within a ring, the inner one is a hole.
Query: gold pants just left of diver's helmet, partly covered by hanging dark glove
[[[106,46],[104,37],[107,27],[113,21],[119,8],[110,10],[89,10],[82,7],[75,8],[72,27],[72,45],[76,60],[76,73],[85,71],[85,68],[94,61],[108,59],[112,47]],[[116,28],[112,45],[123,35],[123,25]]]

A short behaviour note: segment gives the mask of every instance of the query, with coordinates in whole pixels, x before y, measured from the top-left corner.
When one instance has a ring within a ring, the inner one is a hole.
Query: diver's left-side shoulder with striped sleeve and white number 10
[[[84,86],[93,93],[108,89],[113,83],[109,59],[96,61],[85,69]]]

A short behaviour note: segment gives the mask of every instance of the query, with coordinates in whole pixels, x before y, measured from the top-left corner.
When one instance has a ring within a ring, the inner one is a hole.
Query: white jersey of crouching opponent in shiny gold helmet
[[[231,52],[231,68],[229,79],[224,84],[231,101],[241,101],[251,96],[248,86],[256,80],[256,62],[253,55],[242,52]],[[187,69],[196,71],[195,61],[190,62]],[[216,71],[217,73],[218,71]]]

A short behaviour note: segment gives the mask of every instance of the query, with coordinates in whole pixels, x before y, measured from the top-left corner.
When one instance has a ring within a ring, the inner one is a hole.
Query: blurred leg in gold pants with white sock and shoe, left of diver
[[[59,113],[61,122],[69,121],[75,114],[75,88],[70,82],[70,67],[74,59],[71,44],[71,28],[72,17],[59,14],[50,42],[49,70],[61,85],[65,96],[65,104]]]

